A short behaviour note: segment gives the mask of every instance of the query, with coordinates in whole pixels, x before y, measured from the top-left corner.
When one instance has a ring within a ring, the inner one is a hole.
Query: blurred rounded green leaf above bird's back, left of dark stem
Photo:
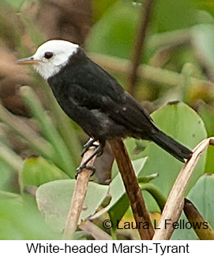
[[[139,8],[130,1],[118,1],[93,25],[86,41],[90,52],[128,59],[135,35]]]

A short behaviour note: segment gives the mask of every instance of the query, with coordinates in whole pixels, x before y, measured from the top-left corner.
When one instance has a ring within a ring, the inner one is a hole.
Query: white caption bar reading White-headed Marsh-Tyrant
[[[11,255],[213,255],[213,241],[0,241],[0,254]]]

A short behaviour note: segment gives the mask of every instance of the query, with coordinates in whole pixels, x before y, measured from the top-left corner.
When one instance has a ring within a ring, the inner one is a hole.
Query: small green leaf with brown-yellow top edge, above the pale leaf
[[[21,191],[24,192],[24,188],[28,185],[39,186],[49,181],[65,178],[69,176],[42,157],[26,159],[20,172]]]

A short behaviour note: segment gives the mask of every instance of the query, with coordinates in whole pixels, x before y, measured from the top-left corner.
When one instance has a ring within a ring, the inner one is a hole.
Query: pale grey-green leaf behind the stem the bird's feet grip
[[[51,181],[39,186],[36,191],[36,201],[39,210],[43,212],[47,223],[55,231],[62,231],[66,224],[69,205],[73,194],[75,180]],[[89,182],[84,199],[84,209],[80,220],[91,216],[107,195],[108,186]]]

